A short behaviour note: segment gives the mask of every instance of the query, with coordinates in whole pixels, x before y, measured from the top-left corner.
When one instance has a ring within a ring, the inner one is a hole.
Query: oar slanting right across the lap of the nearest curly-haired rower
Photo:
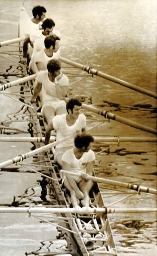
[[[84,178],[83,174],[78,174],[78,173],[69,172],[69,171],[65,171],[65,170],[61,170],[61,173],[70,174],[70,175],[73,175],[73,176],[77,176],[79,178]],[[129,189],[136,190],[137,192],[146,192],[146,193],[157,195],[157,190],[154,189],[154,188],[138,186],[138,185],[134,185],[134,184],[129,184],[129,183],[124,183],[124,182],[120,182],[120,181],[110,180],[110,179],[107,179],[107,178],[99,178],[99,177],[91,176],[91,175],[88,175],[88,174],[85,177],[85,179],[86,180],[92,180],[92,181],[95,181],[95,182],[100,182],[100,183],[106,183],[106,184],[110,184],[110,185],[114,185],[114,186],[119,186],[119,187],[126,187],[126,188],[129,188]]]

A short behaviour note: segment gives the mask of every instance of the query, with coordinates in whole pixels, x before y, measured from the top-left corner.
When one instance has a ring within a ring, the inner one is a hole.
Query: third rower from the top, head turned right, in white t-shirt
[[[47,70],[47,64],[49,60],[59,59],[59,40],[60,38],[55,35],[49,35],[45,37],[45,49],[40,50],[35,54],[35,73],[38,73],[40,70]]]

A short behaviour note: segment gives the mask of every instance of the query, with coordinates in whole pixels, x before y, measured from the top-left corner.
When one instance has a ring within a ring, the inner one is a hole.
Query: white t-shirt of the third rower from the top
[[[44,65],[44,70],[47,70],[48,61],[51,60],[51,59],[59,59],[59,57],[60,57],[60,50],[59,49],[57,50],[57,52],[53,53],[52,57],[48,57],[44,50],[40,50],[39,52],[37,52],[35,54],[35,72],[36,73],[39,72],[39,70],[36,66],[37,62],[42,62],[42,64]]]

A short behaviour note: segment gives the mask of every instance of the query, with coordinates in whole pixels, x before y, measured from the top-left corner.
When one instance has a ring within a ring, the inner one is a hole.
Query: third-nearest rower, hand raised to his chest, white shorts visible
[[[46,122],[50,123],[56,114],[66,113],[64,98],[67,94],[69,79],[61,72],[61,62],[57,59],[50,60],[47,69],[39,71],[37,75],[31,102],[35,102],[41,91],[41,113]]]

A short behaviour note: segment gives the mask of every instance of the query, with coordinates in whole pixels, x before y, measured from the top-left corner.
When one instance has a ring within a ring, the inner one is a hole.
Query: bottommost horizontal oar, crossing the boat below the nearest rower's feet
[[[152,213],[157,212],[157,208],[105,208],[105,207],[83,207],[83,208],[66,208],[66,207],[0,207],[0,213],[46,213],[46,214],[97,214],[97,213]]]

